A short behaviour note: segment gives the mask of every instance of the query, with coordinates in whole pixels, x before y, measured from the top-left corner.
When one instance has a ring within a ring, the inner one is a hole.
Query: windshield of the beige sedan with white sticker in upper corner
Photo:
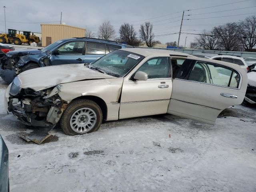
[[[128,51],[116,50],[90,64],[106,74],[122,77],[136,66],[144,56]]]

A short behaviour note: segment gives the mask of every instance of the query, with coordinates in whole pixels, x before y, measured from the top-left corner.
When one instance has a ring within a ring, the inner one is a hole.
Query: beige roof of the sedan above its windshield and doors
[[[191,56],[190,54],[177,52],[177,51],[171,51],[171,50],[165,50],[165,49],[153,49],[153,48],[124,48],[121,49],[124,51],[129,51],[132,53],[136,53],[142,56]]]

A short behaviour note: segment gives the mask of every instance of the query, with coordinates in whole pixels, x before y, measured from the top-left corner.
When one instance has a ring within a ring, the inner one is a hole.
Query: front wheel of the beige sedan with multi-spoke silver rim
[[[60,119],[60,127],[67,135],[82,135],[97,131],[101,123],[100,106],[88,99],[72,101]]]

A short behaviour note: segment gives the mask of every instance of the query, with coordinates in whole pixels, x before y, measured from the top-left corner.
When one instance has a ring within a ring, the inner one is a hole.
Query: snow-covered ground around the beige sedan
[[[82,136],[54,128],[37,145],[19,138],[32,128],[1,111],[10,191],[256,191],[255,113],[236,106],[215,126],[172,115],[132,118]]]

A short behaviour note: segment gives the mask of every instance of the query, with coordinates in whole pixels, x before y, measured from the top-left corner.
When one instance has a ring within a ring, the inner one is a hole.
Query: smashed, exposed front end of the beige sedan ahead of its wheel
[[[15,89],[12,87],[11,90]],[[8,111],[27,125],[55,125],[68,104],[58,96],[58,91],[59,86],[36,92],[26,88],[18,94],[11,91]]]

